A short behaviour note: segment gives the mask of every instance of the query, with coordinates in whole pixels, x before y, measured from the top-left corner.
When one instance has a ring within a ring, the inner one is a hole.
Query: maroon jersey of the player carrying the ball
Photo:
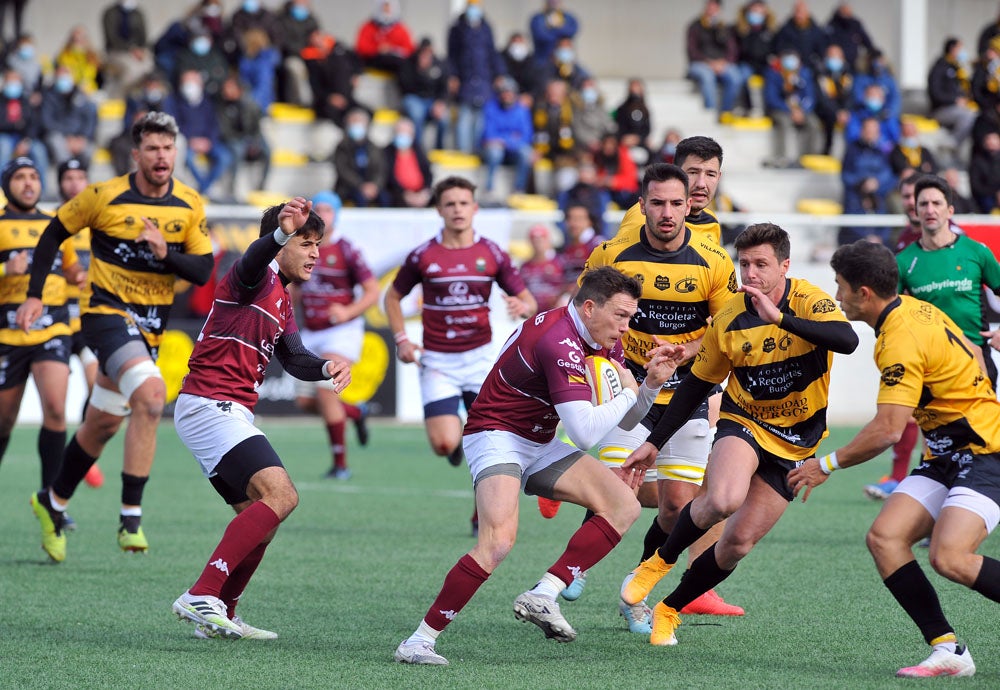
[[[469,410],[465,433],[509,431],[536,443],[556,433],[555,405],[590,401],[588,355],[624,361],[621,343],[594,349],[581,337],[569,307],[538,314],[511,335]]]

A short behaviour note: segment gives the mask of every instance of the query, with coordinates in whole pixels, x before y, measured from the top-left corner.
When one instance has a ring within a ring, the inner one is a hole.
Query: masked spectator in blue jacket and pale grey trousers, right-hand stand
[[[819,151],[822,125],[816,117],[816,88],[812,72],[794,49],[784,50],[768,69],[764,106],[774,123],[774,156],[765,161],[767,167],[795,167],[802,155]]]

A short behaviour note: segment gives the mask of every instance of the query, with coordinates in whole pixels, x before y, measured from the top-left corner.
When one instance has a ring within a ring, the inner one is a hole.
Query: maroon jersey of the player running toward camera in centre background
[[[448,249],[441,236],[406,257],[392,285],[400,295],[422,285],[423,346],[433,352],[465,352],[490,342],[493,283],[508,295],[524,290],[524,280],[507,252],[485,237],[469,247]]]

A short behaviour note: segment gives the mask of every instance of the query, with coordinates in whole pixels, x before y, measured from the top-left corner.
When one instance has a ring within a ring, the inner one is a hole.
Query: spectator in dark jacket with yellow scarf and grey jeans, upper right
[[[965,44],[951,36],[945,39],[944,50],[927,75],[931,117],[951,132],[956,146],[969,138],[976,121],[969,65]]]

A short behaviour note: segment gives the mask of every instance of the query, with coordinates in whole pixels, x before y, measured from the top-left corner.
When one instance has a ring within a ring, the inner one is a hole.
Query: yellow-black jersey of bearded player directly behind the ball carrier
[[[729,254],[711,240],[687,229],[684,232],[684,245],[672,252],[653,248],[645,232],[635,241],[619,235],[598,245],[584,268],[586,272],[614,266],[642,284],[639,309],[622,336],[625,362],[638,381],[645,378],[643,365],[649,361],[646,353],[656,347],[654,337],[675,344],[696,340],[704,334],[709,317],[737,290]],[[679,367],[656,402],[669,402],[689,370],[689,364]]]

